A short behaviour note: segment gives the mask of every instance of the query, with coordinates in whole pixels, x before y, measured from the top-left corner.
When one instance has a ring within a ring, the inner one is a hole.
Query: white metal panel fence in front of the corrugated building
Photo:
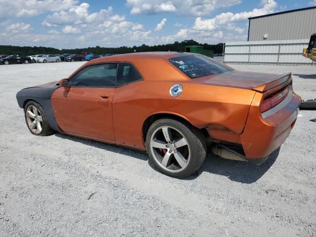
[[[243,64],[307,64],[311,59],[302,56],[307,40],[265,40],[225,43],[225,63]]]

